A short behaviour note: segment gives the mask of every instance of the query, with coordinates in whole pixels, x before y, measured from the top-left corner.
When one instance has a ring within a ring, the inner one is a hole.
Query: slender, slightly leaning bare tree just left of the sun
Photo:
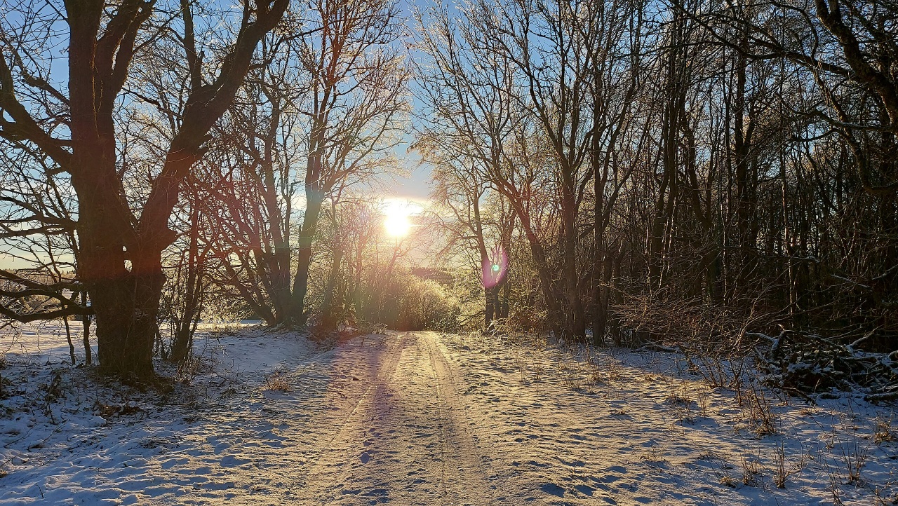
[[[395,48],[401,35],[396,4],[357,0],[313,4],[321,23],[305,39],[299,64],[308,93],[296,103],[308,118],[305,138],[305,210],[297,237],[298,266],[286,325],[304,325],[309,266],[321,205],[349,178],[371,170],[370,157],[397,141],[392,134],[406,109],[409,73]]]

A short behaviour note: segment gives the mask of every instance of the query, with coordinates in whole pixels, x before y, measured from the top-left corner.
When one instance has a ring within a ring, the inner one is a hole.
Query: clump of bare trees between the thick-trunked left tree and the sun
[[[321,210],[340,188],[386,170],[407,109],[392,2],[315,2],[308,34],[273,35],[214,153],[225,275],[269,325],[303,326]],[[234,150],[233,148],[237,148]],[[236,262],[234,263],[234,260]]]

